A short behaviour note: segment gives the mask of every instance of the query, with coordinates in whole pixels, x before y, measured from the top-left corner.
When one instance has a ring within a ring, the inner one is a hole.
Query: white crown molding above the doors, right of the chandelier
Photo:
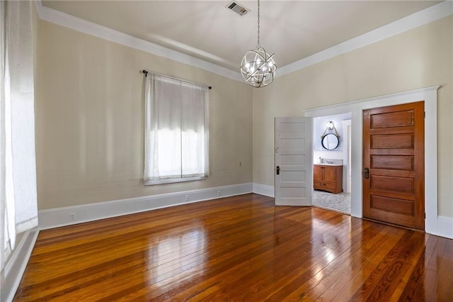
[[[343,55],[352,50],[357,50],[360,47],[390,38],[394,35],[398,35],[398,33],[404,33],[407,30],[423,26],[427,23],[437,21],[452,14],[453,2],[443,1],[440,4],[428,7],[428,9],[423,9],[423,11],[418,11],[385,26],[371,30],[368,33],[364,33],[363,35],[359,35],[343,43],[329,47],[326,50],[316,52],[314,55],[304,57],[302,60],[280,67],[277,75],[280,77],[284,74],[304,69],[305,67],[315,65],[316,63],[323,62],[338,55]]]

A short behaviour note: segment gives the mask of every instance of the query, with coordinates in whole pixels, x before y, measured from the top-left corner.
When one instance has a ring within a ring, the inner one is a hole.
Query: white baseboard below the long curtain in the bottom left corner
[[[11,257],[5,267],[5,276],[1,278],[0,301],[13,301],[39,232],[38,227],[25,231],[21,241],[11,252]]]

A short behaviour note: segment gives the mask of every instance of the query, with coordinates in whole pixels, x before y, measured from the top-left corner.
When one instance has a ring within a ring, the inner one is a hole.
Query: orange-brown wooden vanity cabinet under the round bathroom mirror
[[[315,190],[334,194],[343,192],[343,165],[314,164],[313,186]]]

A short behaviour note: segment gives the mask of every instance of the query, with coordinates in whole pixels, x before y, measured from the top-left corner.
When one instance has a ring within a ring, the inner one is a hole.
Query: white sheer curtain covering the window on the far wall
[[[209,175],[206,86],[147,74],[145,184]]]

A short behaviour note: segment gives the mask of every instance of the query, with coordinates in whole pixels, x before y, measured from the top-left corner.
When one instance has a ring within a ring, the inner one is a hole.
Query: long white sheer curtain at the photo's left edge
[[[38,225],[33,87],[33,1],[1,1],[0,265],[16,234]]]

